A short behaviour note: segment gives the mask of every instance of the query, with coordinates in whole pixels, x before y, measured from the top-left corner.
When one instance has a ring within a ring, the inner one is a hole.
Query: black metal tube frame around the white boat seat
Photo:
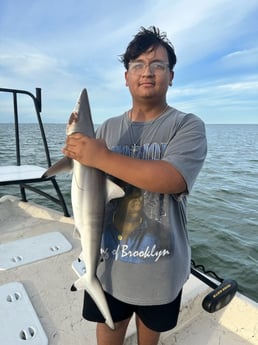
[[[45,149],[46,154],[46,161],[48,167],[51,166],[51,159],[49,154],[49,148],[46,140],[46,135],[41,119],[41,88],[36,88],[36,96],[34,96],[31,92],[25,91],[25,90],[16,90],[16,89],[6,89],[6,88],[0,88],[0,92],[7,92],[11,93],[13,95],[13,114],[14,114],[14,127],[15,127],[15,143],[16,143],[16,165],[21,166],[21,154],[20,154],[20,135],[19,135],[19,118],[18,118],[18,102],[17,102],[17,94],[25,94],[32,98],[35,112],[37,116],[38,125],[40,128],[41,137],[43,140],[43,146]],[[57,198],[51,196],[50,194],[42,191],[38,187],[33,187],[29,184],[35,183],[35,182],[45,182],[45,181],[51,181],[53,184],[54,189],[57,193]],[[12,180],[12,181],[0,181],[0,185],[12,185],[12,184],[18,184],[20,186],[20,193],[21,193],[21,200],[27,201],[26,191],[25,189],[31,190],[37,194],[40,194],[41,196],[46,197],[47,199],[53,201],[54,203],[61,206],[63,209],[64,215],[66,217],[69,217],[69,212],[63,197],[63,194],[59,188],[59,185],[56,181],[55,176],[48,177],[48,178],[33,178],[33,179],[24,179],[24,180]]]

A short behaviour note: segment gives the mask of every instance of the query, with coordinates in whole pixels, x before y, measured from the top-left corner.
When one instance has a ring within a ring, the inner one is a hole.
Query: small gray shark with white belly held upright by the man
[[[83,89],[69,118],[66,134],[82,133],[95,138],[89,100]],[[100,245],[103,230],[105,204],[124,196],[124,191],[106,178],[106,175],[94,168],[80,164],[68,157],[51,166],[44,177],[53,176],[61,171],[73,170],[71,198],[76,231],[80,234],[82,254],[86,273],[72,286],[72,290],[85,289],[98,306],[106,324],[114,329],[100,281],[96,276],[100,258]]]

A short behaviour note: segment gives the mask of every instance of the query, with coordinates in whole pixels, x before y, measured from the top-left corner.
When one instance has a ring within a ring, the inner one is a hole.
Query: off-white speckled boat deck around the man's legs
[[[13,197],[0,199],[0,245],[54,232],[64,235],[72,249],[9,269],[3,269],[0,262],[0,288],[11,282],[22,283],[48,339],[46,344],[96,345],[95,324],[85,321],[81,316],[83,292],[70,291],[76,279],[71,265],[80,254],[80,242],[73,238],[73,219],[32,203],[20,202]],[[28,245],[28,252],[30,247]],[[210,288],[199,279],[190,277],[184,288],[178,326],[162,334],[160,345],[258,344],[258,304],[237,294],[227,307],[209,314],[201,307],[202,299],[209,291]],[[21,343],[21,321],[16,320],[16,316],[18,314],[14,314],[8,325],[0,320],[0,325],[5,325],[0,333],[6,334],[8,338],[11,332],[17,340],[11,340],[11,343],[3,339],[6,341],[3,344]],[[26,324],[25,318],[23,322],[22,329],[34,327],[35,330],[35,326]],[[45,345],[44,341],[40,342],[39,333],[36,329],[27,343]],[[137,344],[133,320],[125,344]]]

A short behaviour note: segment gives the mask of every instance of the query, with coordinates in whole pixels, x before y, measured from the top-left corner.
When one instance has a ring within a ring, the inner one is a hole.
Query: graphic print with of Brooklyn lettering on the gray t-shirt
[[[140,159],[160,159],[164,149],[160,144],[112,148]],[[115,182],[124,189],[125,196],[107,205],[102,258],[153,263],[173,255],[173,234],[167,219],[169,196],[147,192],[120,180]]]

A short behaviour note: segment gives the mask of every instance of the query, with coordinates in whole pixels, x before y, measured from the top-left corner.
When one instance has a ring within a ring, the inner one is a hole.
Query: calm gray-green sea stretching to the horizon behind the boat
[[[45,131],[54,163],[62,157],[65,125],[46,124]],[[12,137],[12,125],[0,124],[0,165],[14,162],[7,155]],[[26,163],[46,166],[39,137],[35,124],[22,125]],[[208,156],[189,197],[192,258],[222,278],[237,280],[240,291],[258,301],[258,125],[207,125],[207,137]],[[71,211],[71,175],[57,180]],[[18,188],[1,187],[4,194],[18,195]],[[29,193],[30,200],[49,206],[40,198]]]

